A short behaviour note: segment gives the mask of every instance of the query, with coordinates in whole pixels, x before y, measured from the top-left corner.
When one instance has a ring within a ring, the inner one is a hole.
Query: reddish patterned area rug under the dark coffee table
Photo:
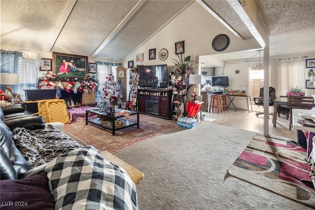
[[[107,150],[111,153],[115,153],[179,127],[172,121],[163,121],[142,115],[140,115],[139,121],[139,128],[135,125],[117,130],[115,131],[115,136],[112,135],[112,131],[105,130],[90,123],[86,125],[85,121],[65,124],[63,131],[79,139],[86,145],[94,146],[97,150]]]

